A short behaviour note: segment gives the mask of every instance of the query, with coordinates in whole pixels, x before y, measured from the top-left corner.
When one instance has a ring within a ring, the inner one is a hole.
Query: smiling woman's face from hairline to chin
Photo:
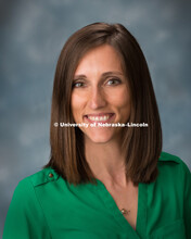
[[[73,84],[72,112],[76,123],[128,122],[130,90],[113,47],[93,48],[79,62]],[[81,130],[88,150],[91,141],[112,143],[118,138],[119,142],[123,128],[81,127]]]

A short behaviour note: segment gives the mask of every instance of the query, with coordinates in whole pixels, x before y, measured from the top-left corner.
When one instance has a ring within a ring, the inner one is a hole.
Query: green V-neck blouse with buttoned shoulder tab
[[[136,230],[105,186],[69,185],[52,168],[20,181],[3,239],[191,239],[191,174],[177,156],[162,153],[160,174],[139,184]]]

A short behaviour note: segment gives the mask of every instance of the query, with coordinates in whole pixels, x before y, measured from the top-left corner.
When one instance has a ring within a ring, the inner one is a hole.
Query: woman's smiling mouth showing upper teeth
[[[114,113],[100,113],[100,114],[87,114],[84,117],[87,118],[89,123],[107,123],[114,118]]]

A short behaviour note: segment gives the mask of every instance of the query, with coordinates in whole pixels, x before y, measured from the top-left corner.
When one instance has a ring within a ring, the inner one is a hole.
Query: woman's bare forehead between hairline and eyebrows
[[[119,53],[110,45],[89,50],[80,59],[75,75],[93,72],[123,72]]]

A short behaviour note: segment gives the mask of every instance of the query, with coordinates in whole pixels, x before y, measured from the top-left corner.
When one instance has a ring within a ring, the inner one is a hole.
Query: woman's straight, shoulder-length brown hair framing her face
[[[66,41],[60,54],[52,93],[51,158],[44,166],[54,168],[69,184],[96,183],[85,158],[84,136],[78,127],[54,127],[54,123],[75,123],[71,96],[74,73],[85,53],[98,46],[112,46],[120,55],[131,92],[129,122],[149,127],[125,127],[126,174],[135,185],[151,183],[157,176],[162,151],[161,121],[144,55],[135,37],[122,24],[94,23],[82,27]]]

